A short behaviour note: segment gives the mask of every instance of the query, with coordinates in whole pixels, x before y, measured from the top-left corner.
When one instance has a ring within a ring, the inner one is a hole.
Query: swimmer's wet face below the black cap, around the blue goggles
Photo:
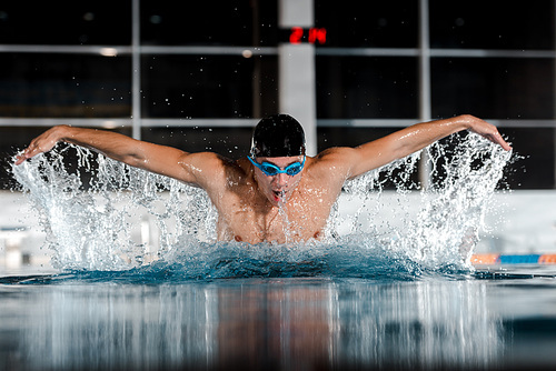
[[[288,166],[302,162],[302,156],[296,157],[259,157],[256,159],[257,163],[268,162],[277,166],[280,169],[286,169]],[[259,168],[252,167],[255,171],[255,179],[259,186],[259,190],[271,204],[279,207],[288,202],[291,193],[299,184],[304,170],[299,171],[295,176],[288,176],[286,173],[278,173],[276,176],[267,176]]]

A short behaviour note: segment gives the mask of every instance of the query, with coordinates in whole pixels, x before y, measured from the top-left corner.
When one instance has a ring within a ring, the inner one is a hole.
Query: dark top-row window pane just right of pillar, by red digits
[[[315,24],[325,47],[415,48],[418,1],[315,1]]]

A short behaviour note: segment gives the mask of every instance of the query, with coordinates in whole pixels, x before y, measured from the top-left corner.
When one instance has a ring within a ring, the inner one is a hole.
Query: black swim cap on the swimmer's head
[[[251,157],[305,154],[305,132],[289,114],[272,114],[257,123],[252,132]]]

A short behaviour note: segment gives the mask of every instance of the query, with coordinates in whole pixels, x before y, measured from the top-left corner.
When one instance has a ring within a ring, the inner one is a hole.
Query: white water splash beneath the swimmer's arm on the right
[[[473,133],[450,136],[424,151],[431,180],[425,191],[413,191],[419,188],[414,176],[420,152],[347,183],[358,202],[374,199],[361,202],[374,209],[358,210],[351,221],[354,233],[367,225],[380,245],[428,269],[470,269],[479,232],[488,228],[485,214],[492,195],[513,153]],[[383,198],[387,182],[396,188],[395,203]]]

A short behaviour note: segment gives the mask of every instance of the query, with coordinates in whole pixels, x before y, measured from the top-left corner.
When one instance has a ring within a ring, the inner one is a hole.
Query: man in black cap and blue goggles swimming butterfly
[[[202,188],[218,211],[218,240],[249,243],[318,239],[344,182],[414,153],[451,133],[470,130],[510,150],[498,130],[473,116],[418,123],[356,148],[305,153],[299,122],[287,114],[259,121],[251,151],[232,161],[188,153],[95,129],[53,127],[33,139],[16,164],[58,142],[93,149],[129,166]]]

